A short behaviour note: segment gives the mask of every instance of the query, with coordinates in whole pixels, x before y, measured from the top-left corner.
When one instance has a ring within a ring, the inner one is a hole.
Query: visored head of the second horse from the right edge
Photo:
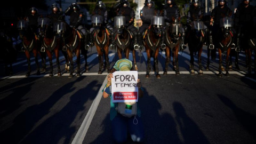
[[[231,33],[231,28],[233,27],[234,22],[233,19],[230,17],[223,17],[220,20],[220,29],[224,37],[227,37]]]

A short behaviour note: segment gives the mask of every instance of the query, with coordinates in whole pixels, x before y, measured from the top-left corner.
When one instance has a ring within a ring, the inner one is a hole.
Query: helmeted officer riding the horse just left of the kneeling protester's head
[[[101,15],[102,16],[102,21],[103,21],[103,26],[104,27],[107,27],[110,31],[113,31],[113,27],[111,27],[109,24],[108,24],[108,11],[106,9],[106,5],[102,2],[102,1],[98,1],[96,3],[96,6],[95,6],[95,9],[93,10],[92,12],[92,15],[95,15],[95,14],[98,14],[98,15]],[[90,34],[89,34],[89,45],[90,46],[93,46],[93,30],[94,30],[94,27],[92,27],[90,29]]]

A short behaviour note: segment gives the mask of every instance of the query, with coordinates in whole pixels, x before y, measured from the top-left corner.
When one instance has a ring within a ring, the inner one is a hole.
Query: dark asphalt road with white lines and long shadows
[[[111,66],[117,60],[114,52]],[[94,54],[88,52],[89,58]],[[256,143],[256,80],[246,75],[243,55],[240,71],[232,69],[229,77],[219,78],[218,59],[204,75],[190,75],[185,50],[179,56],[179,76],[170,63],[169,75],[157,79],[152,72],[146,79],[146,58],[137,54],[145,89],[139,100],[144,143]],[[98,75],[97,54],[93,57],[90,71],[82,67],[82,76],[73,78],[67,77],[63,63],[61,77],[49,77],[49,71],[36,76],[35,70],[25,77],[23,53],[13,76],[4,75],[1,63],[0,143],[113,143],[110,99],[101,96],[107,73]],[[163,70],[165,58],[159,54],[158,59]]]

